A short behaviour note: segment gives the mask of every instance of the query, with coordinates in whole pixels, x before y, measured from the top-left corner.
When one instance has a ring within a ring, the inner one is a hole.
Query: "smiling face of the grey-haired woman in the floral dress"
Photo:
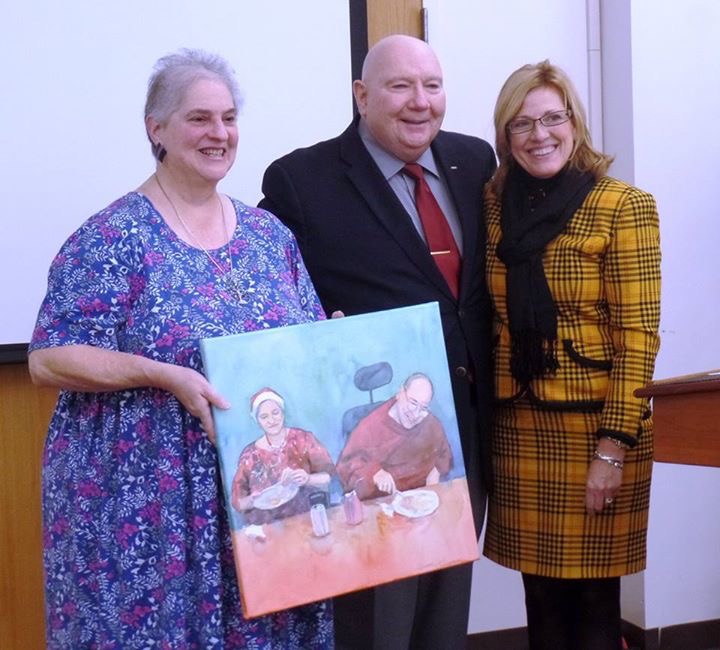
[[[236,109],[227,86],[217,79],[192,83],[178,109],[160,124],[148,117],[153,142],[167,149],[163,165],[190,184],[217,183],[237,151]]]

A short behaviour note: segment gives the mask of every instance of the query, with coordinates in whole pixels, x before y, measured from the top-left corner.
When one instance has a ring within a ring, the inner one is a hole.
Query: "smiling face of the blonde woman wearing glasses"
[[[531,120],[562,111],[566,108],[560,93],[552,86],[534,88],[526,96],[515,119]],[[535,178],[551,178],[567,163],[572,155],[575,127],[572,120],[558,126],[547,127],[535,122],[531,131],[509,134],[510,153],[515,161]]]

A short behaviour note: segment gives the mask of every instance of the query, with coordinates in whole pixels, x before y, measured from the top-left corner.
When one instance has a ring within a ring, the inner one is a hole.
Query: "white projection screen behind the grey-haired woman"
[[[260,198],[265,167],[352,118],[347,2],[25,0],[0,18],[0,344],[27,342],[62,241],[154,169],[143,105],[154,62],[223,55],[245,107],[222,189]]]

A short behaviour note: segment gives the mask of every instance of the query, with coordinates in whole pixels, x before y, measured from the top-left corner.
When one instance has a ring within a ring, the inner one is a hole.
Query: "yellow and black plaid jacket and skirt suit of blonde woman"
[[[558,309],[554,376],[524,397],[509,371],[505,267],[495,250],[500,205],[488,190],[488,282],[496,310],[493,434],[495,493],[485,554],[527,573],[602,578],[645,566],[652,419],[633,391],[652,378],[659,348],[660,243],[653,197],[598,182],[548,245],[545,274]],[[514,401],[513,401],[513,398]],[[585,513],[587,468],[598,431],[637,441],[623,485],[600,515]]]

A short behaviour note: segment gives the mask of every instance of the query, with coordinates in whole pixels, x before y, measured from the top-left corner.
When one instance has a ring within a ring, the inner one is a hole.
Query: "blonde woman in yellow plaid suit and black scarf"
[[[505,82],[486,192],[495,491],[485,554],[522,572],[532,650],[619,650],[645,567],[658,351],[655,201],[607,175],[566,74]]]

